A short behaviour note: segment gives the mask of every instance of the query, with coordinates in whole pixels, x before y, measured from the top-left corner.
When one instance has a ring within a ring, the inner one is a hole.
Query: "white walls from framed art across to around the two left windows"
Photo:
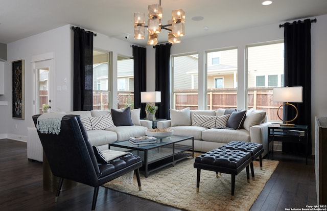
[[[97,32],[95,32],[97,33]],[[8,101],[8,105],[0,105],[0,139],[27,139],[27,127],[33,126],[33,70],[31,58],[36,55],[53,53],[54,55],[54,89],[55,96],[52,106],[64,111],[73,110],[73,36],[70,25],[53,29],[7,45],[7,61],[5,62],[5,95],[0,101]],[[117,55],[132,56],[130,43],[97,33],[94,38],[94,48],[112,52],[112,69],[116,70]],[[12,119],[11,115],[11,62],[25,60],[25,120]],[[116,71],[112,72],[113,83],[116,85]],[[67,82],[64,82],[64,78]],[[67,91],[57,91],[57,86],[67,86]],[[116,96],[116,90],[112,96]],[[116,105],[116,98],[113,105]]]

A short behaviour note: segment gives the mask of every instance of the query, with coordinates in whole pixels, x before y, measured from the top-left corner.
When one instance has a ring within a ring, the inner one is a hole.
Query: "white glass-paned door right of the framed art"
[[[33,115],[42,113],[42,105],[51,106],[54,111],[54,69],[53,59],[32,62],[34,72]]]

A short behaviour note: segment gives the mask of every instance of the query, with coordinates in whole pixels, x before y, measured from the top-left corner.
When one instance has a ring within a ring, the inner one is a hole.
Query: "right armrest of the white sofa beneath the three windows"
[[[268,126],[270,124],[270,122],[266,122],[250,127],[251,142],[264,145],[262,156],[265,156],[268,153]]]

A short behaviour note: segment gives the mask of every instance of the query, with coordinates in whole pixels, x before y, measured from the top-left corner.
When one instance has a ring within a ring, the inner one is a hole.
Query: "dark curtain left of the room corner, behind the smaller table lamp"
[[[145,103],[141,104],[141,91],[146,91],[146,48],[132,46],[134,57],[134,108],[141,108],[141,118],[146,117]]]

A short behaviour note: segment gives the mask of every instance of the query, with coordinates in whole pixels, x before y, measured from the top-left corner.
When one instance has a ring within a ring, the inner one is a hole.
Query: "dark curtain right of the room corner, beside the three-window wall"
[[[170,48],[171,43],[155,46],[155,90],[161,91],[156,117],[170,119]]]

